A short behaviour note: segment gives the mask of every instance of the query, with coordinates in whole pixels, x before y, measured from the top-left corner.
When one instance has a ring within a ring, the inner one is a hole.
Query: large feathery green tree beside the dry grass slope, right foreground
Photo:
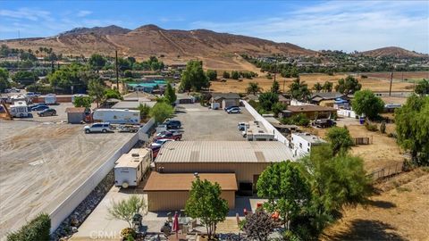
[[[366,176],[364,162],[359,157],[332,156],[330,145],[320,145],[299,162],[311,185],[312,199],[306,216],[315,237],[339,217],[344,206],[366,204],[372,194],[371,179]]]

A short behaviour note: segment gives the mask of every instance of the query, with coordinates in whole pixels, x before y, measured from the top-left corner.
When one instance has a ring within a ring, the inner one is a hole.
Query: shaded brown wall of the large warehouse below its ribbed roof
[[[254,175],[260,175],[270,162],[156,162],[156,171],[164,168],[165,173],[201,172],[235,173],[237,181],[253,183]]]

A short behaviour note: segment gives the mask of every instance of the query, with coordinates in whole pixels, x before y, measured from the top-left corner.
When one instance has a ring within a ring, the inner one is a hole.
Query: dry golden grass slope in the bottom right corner
[[[376,185],[366,206],[346,208],[323,240],[429,240],[429,173],[414,170]]]

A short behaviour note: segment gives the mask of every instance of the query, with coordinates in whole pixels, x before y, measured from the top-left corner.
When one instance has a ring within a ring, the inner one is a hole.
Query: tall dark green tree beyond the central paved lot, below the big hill
[[[189,61],[186,70],[181,73],[181,89],[185,91],[200,91],[209,87],[208,78],[203,71],[203,64],[200,61]]]

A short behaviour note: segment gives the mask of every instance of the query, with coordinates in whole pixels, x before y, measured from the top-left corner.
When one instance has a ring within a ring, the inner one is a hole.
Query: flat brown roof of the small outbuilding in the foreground
[[[223,191],[237,191],[235,173],[198,173],[201,180],[217,182]],[[144,191],[189,191],[194,173],[159,173],[152,171],[147,179]]]

